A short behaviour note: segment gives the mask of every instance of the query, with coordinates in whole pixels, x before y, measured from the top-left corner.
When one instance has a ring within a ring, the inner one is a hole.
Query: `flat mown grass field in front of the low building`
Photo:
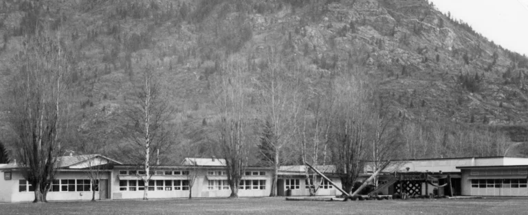
[[[0,214],[527,214],[526,198],[285,201],[284,198],[0,203]]]

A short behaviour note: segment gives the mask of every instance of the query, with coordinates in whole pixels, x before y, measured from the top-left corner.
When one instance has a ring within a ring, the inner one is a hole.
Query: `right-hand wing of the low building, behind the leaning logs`
[[[373,163],[369,162],[361,178],[372,174]],[[376,192],[449,195],[450,178],[455,196],[528,196],[527,176],[526,157],[399,160],[380,173]]]

